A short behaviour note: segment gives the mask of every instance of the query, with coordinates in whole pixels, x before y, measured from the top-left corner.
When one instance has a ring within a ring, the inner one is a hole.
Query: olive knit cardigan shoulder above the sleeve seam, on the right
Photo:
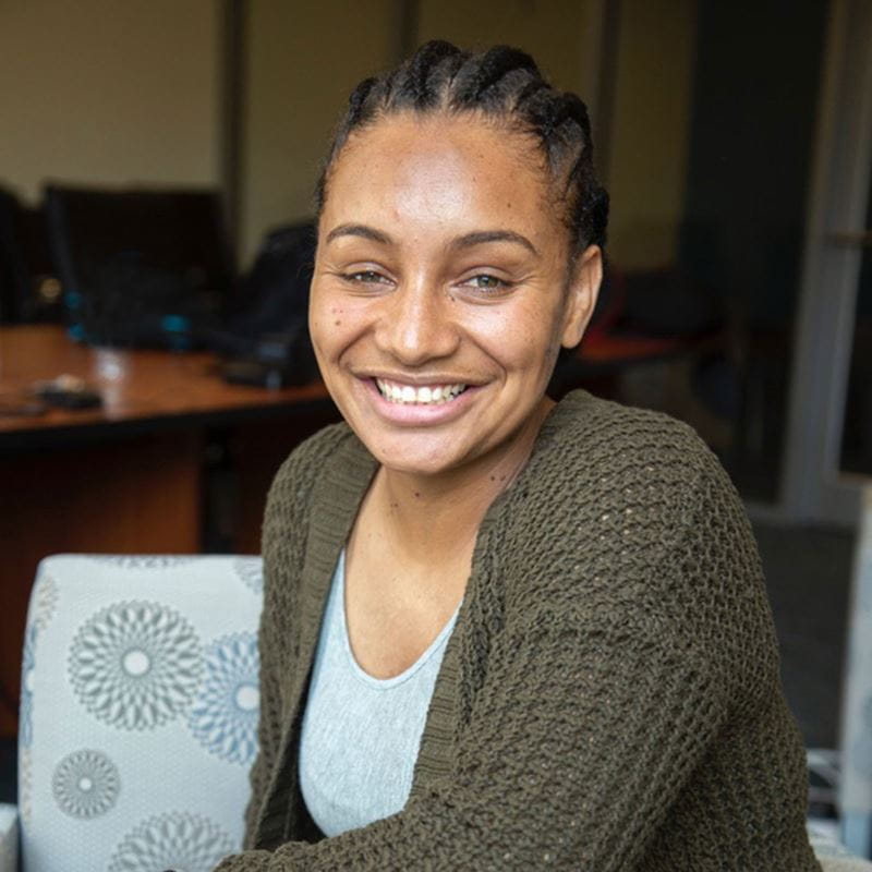
[[[756,658],[771,677],[774,632],[751,528],[700,437],[586,393],[565,399],[543,437],[497,531],[498,553],[511,555],[512,618],[544,615],[546,625],[711,650],[732,664]]]

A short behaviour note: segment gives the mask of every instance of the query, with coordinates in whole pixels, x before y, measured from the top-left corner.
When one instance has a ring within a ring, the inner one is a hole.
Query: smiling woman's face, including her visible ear
[[[334,400],[388,469],[438,474],[529,448],[601,277],[594,246],[569,274],[537,159],[473,117],[399,116],[331,168],[310,328]]]

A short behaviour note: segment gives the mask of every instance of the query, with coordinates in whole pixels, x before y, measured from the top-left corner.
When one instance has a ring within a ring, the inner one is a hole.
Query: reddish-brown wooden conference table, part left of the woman
[[[0,735],[15,730],[27,597],[43,557],[197,553],[209,513],[229,549],[256,553],[272,474],[336,420],[319,383],[229,385],[218,362],[88,348],[56,325],[0,327]],[[62,374],[84,378],[102,407],[10,413],[35,382]]]

